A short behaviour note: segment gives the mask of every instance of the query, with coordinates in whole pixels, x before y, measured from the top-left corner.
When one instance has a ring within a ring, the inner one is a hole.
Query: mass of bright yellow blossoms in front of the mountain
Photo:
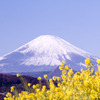
[[[97,59],[98,70],[94,72],[94,65],[91,59],[85,59],[87,70],[73,73],[73,70],[61,63],[59,69],[62,70],[61,77],[54,76],[47,80],[49,89],[41,86],[41,77],[38,77],[40,84],[32,85],[28,83],[26,91],[17,93],[14,86],[11,92],[6,94],[4,100],[100,100],[100,59]],[[21,77],[17,74],[17,77]],[[57,81],[55,86],[54,81]]]

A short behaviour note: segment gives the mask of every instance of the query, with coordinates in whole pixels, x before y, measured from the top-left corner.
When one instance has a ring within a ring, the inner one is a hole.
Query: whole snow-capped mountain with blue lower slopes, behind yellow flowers
[[[0,57],[0,73],[27,73],[35,77],[47,73],[51,77],[61,74],[58,67],[62,61],[74,71],[85,69],[84,60],[88,57],[93,63],[98,59],[57,36],[42,35]]]

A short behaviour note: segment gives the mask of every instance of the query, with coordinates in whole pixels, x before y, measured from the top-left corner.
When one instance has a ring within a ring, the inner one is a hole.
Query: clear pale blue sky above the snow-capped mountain
[[[0,56],[44,34],[100,57],[100,0],[0,0]]]

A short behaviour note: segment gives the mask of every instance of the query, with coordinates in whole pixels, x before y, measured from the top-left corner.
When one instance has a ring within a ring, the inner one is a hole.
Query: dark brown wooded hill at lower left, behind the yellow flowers
[[[25,75],[22,77],[27,81],[27,83],[32,83],[32,85],[39,83],[37,78]],[[42,80],[42,85],[46,85],[45,80]],[[11,86],[15,86],[18,92],[25,90],[19,77],[16,77],[15,75],[0,74],[0,100],[3,100],[5,94],[10,91]]]

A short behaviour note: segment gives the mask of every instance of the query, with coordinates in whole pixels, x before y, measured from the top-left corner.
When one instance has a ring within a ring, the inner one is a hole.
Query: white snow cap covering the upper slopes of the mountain
[[[23,49],[24,48],[24,49]],[[42,35],[27,43],[18,50],[20,53],[31,53],[32,57],[24,59],[25,65],[60,65],[61,61],[71,60],[71,53],[83,57],[89,53],[73,46],[69,42],[52,35]]]

